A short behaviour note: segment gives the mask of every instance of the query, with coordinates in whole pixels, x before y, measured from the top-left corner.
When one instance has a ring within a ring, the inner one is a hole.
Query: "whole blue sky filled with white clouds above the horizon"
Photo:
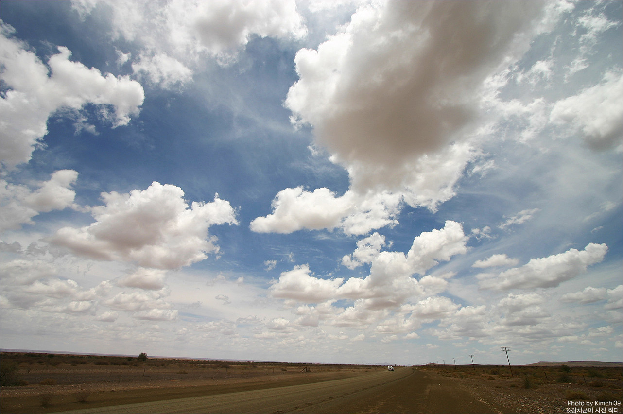
[[[620,1],[1,20],[2,349],[621,362]]]

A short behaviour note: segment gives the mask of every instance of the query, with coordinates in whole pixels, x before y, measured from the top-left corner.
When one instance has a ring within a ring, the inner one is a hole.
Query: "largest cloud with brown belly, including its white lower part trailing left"
[[[285,100],[293,121],[312,125],[317,143],[346,167],[351,188],[341,197],[286,189],[273,200],[273,214],[255,219],[252,229],[365,234],[396,225],[403,202],[435,211],[480,156],[465,137],[485,81],[518,59],[554,15],[537,3],[359,7],[317,50],[298,51],[299,80]]]

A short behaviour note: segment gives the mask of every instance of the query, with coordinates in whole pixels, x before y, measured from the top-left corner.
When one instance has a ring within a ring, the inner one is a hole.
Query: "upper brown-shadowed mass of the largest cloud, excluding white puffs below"
[[[444,151],[475,120],[485,79],[543,29],[535,27],[541,7],[366,4],[317,50],[299,50],[300,80],[285,103],[339,162],[412,165]]]

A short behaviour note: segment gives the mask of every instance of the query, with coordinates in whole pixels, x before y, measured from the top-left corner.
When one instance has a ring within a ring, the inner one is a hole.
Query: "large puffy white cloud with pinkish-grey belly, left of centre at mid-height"
[[[64,227],[51,238],[78,255],[98,260],[135,261],[140,266],[175,269],[218,252],[211,225],[237,224],[229,202],[193,202],[188,208],[176,186],[153,182],[144,191],[102,193],[105,205],[92,208],[90,226]]]

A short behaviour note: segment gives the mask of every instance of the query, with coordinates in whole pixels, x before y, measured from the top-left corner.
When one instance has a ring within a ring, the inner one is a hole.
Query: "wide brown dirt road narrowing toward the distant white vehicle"
[[[70,413],[500,413],[444,377],[412,367],[358,377]],[[69,412],[68,412],[69,413]]]

